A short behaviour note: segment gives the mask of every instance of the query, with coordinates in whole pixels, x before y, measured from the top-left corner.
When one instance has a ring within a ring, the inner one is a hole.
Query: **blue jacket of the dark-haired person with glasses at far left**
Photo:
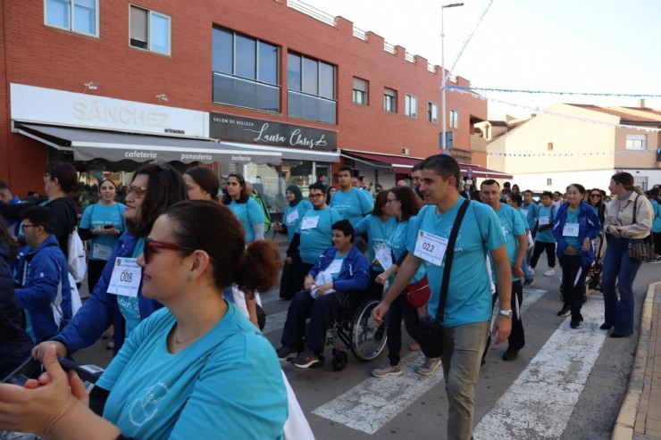
[[[71,320],[69,269],[57,238],[49,236],[36,249],[23,254],[17,269],[16,303],[28,311],[35,342],[40,343],[54,336],[64,320]],[[54,312],[51,304],[58,295],[62,295],[62,316],[56,319],[60,313]]]

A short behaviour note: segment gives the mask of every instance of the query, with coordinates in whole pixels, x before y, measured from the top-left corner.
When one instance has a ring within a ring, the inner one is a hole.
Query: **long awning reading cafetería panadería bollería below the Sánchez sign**
[[[135,162],[234,162],[280,163],[282,154],[274,151],[255,151],[229,147],[211,139],[148,136],[94,129],[75,129],[22,122],[14,122],[14,128],[59,150],[73,152],[77,161],[105,159],[118,162],[129,159]]]

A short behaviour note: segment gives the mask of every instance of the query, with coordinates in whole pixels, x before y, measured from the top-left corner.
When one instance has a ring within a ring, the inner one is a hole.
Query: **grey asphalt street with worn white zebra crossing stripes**
[[[540,262],[537,273],[546,269]],[[638,331],[630,338],[614,339],[599,330],[603,299],[590,295],[581,328],[569,328],[560,309],[559,270],[555,277],[535,277],[524,290],[523,323],[526,345],[513,362],[502,361],[506,345],[491,346],[477,387],[475,438],[606,439],[627,392]],[[658,266],[644,264],[634,285],[639,328],[642,298],[648,284],[658,280]],[[277,291],[263,296],[267,312],[264,334],[279,345],[289,302]],[[370,371],[385,361],[385,354],[362,363],[349,354],[347,368],[334,372],[331,362],[322,369],[283,370],[315,436],[322,438],[446,438],[448,411],[442,372],[423,377],[414,369],[423,361],[420,352],[408,352],[405,337],[404,374],[372,378]],[[330,353],[327,353],[330,354]],[[330,356],[328,356],[330,358]],[[111,352],[105,341],[79,353],[79,361],[105,365]]]

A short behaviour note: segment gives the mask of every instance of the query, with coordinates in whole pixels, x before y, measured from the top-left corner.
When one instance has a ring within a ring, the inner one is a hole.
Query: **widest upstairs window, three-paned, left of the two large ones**
[[[280,112],[278,46],[213,28],[213,102]]]

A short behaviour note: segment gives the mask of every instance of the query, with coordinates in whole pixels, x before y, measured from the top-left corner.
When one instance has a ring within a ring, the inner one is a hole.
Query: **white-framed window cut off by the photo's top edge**
[[[98,0],[45,0],[46,26],[98,37]]]

